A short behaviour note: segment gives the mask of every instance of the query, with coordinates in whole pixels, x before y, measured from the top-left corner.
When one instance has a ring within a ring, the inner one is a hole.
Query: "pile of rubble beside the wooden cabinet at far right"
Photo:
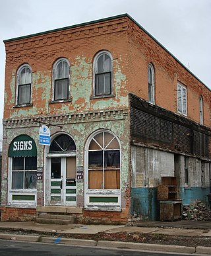
[[[184,220],[211,220],[210,208],[204,202],[195,200],[189,206],[183,206]]]

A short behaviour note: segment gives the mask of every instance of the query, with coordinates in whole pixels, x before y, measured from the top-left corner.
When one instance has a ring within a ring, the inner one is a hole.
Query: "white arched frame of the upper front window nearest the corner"
[[[98,74],[98,59],[100,56],[107,54],[110,58],[111,66],[110,66],[110,72],[111,72],[111,93],[105,93],[105,94],[100,94],[97,95],[96,93],[96,74]],[[108,51],[101,51],[96,54],[94,57],[94,62],[93,62],[93,87],[92,87],[92,96],[97,97],[97,98],[102,98],[102,97],[112,97],[113,95],[113,57],[110,52]]]

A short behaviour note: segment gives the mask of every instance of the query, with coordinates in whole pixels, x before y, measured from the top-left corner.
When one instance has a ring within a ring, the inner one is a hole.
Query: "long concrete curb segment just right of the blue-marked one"
[[[151,251],[171,251],[175,253],[195,253],[195,247],[177,246],[177,245],[158,245],[150,243],[130,243],[119,241],[98,241],[99,247],[138,249]]]

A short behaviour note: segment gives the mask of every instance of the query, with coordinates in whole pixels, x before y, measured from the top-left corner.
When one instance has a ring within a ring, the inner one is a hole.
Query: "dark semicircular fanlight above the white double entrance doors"
[[[49,148],[49,153],[52,152],[69,152],[76,151],[76,146],[74,140],[67,134],[60,134],[57,136]]]

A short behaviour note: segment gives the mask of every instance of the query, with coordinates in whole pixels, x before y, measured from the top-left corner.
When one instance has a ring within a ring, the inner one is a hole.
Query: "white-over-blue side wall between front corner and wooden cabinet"
[[[174,176],[174,155],[141,146],[132,146],[131,216],[158,220],[157,187],[162,176]]]

